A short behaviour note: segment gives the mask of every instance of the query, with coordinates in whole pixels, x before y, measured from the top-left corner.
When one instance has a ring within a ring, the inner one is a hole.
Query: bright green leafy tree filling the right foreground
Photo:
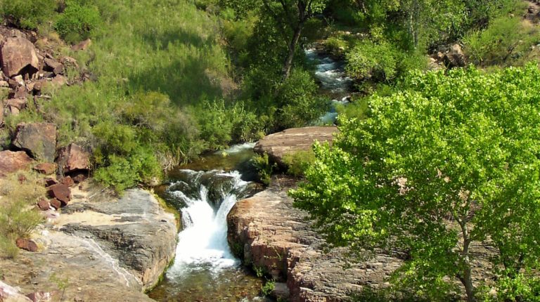
[[[507,272],[537,267],[539,89],[536,65],[411,74],[368,119],[340,121],[290,194],[330,244],[406,251],[397,284],[437,299],[459,280],[473,301],[472,242]]]

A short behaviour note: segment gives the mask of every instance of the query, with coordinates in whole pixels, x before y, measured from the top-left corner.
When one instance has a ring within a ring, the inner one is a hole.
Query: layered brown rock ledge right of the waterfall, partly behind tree
[[[273,187],[243,199],[229,213],[228,239],[235,254],[286,282],[292,302],[346,301],[349,294],[366,287],[387,287],[387,277],[401,261],[377,254],[344,270],[345,249],[322,252],[324,240],[287,196],[293,181],[283,181],[274,180]]]

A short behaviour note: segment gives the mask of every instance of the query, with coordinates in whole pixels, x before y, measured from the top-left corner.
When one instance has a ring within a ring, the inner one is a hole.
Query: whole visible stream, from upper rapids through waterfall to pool
[[[335,106],[349,103],[352,80],[344,64],[316,48],[306,50],[315,66],[323,96],[332,109],[319,123],[334,124]],[[213,152],[169,173],[169,183],[156,189],[158,195],[181,212],[174,263],[152,291],[156,301],[265,301],[260,297],[262,280],[241,265],[227,242],[226,217],[240,199],[260,190],[249,161],[255,143],[235,145]]]

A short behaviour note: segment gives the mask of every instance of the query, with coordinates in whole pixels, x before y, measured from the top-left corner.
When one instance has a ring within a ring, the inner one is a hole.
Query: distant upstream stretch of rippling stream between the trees
[[[308,48],[305,53],[306,58],[316,64],[315,77],[321,82],[321,92],[332,98],[330,111],[320,120],[323,124],[334,124],[338,117],[336,106],[349,103],[349,91],[353,81],[345,74],[344,63],[320,53],[316,48]]]

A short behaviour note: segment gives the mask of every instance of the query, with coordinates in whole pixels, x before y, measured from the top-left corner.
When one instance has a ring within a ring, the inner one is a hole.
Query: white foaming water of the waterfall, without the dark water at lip
[[[241,180],[240,173],[237,171],[186,172],[189,173],[192,183],[199,183],[198,179],[204,173],[226,176],[230,178],[228,181],[231,181],[231,190],[221,192],[221,204],[217,211],[214,211],[210,205],[208,189],[200,183],[197,197],[188,197],[181,191],[171,192],[172,195],[183,200],[186,207],[181,209],[184,230],[179,233],[176,258],[167,271],[167,277],[188,276],[196,270],[219,273],[220,270],[239,264],[227,243],[226,217],[240,197],[237,194],[241,194],[248,182]]]

